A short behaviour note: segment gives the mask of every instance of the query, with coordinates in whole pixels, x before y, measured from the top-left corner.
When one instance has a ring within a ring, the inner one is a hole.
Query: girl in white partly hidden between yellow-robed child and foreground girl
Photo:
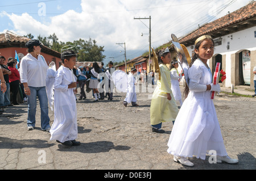
[[[182,73],[179,74],[179,71],[177,68],[179,67],[179,63],[177,60],[172,60],[171,62],[171,90],[172,94],[174,94],[174,99],[180,103],[180,106],[182,106],[182,98],[181,98],[181,92],[180,92],[180,79],[182,78]]]

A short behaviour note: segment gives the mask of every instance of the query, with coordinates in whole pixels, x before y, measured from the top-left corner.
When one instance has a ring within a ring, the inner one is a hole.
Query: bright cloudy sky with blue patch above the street
[[[35,37],[56,33],[60,41],[95,39],[106,61],[137,57],[247,5],[249,0],[9,0],[0,1],[0,33],[6,30]],[[144,36],[141,36],[141,33]],[[122,52],[120,52],[122,51]],[[114,58],[111,58],[114,57]]]

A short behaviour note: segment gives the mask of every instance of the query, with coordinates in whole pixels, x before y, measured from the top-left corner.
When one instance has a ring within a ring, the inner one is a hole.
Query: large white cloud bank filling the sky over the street
[[[39,22],[31,15],[7,14],[13,22],[14,31],[19,35],[32,33],[49,36],[56,33],[60,41],[73,41],[78,39],[95,39],[98,45],[105,46],[105,50],[117,49],[115,43],[126,43],[130,50],[148,50],[148,35],[141,37],[141,33],[148,33],[149,20],[137,19],[151,16],[151,46],[156,48],[171,39],[171,33],[183,36],[207,23],[209,18],[220,18],[228,11],[232,12],[245,6],[247,0],[238,0],[223,9],[231,0],[225,1],[191,1],[191,0],[119,0],[105,1],[81,0],[81,12],[68,10],[64,14],[52,16],[49,22]],[[61,6],[64,6],[63,4]],[[58,6],[57,8],[60,8]],[[47,14],[46,14],[47,15]],[[211,16],[212,15],[212,16]],[[215,19],[216,19],[215,18]]]

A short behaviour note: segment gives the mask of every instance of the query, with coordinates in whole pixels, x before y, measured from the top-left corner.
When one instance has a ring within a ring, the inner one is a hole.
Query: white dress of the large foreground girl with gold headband
[[[189,82],[209,85],[212,74],[200,60],[188,70]],[[181,157],[205,159],[208,151],[227,155],[210,91],[190,91],[176,117],[167,152]]]

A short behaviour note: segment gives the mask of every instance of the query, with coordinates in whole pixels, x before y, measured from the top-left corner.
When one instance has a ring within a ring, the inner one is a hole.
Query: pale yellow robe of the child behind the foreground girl
[[[164,64],[160,64],[159,68],[161,78],[157,82],[157,86],[153,92],[150,106],[151,125],[173,121],[176,119],[177,113],[179,112],[174,95],[171,91],[170,70]],[[167,99],[167,93],[171,94],[171,100]]]

